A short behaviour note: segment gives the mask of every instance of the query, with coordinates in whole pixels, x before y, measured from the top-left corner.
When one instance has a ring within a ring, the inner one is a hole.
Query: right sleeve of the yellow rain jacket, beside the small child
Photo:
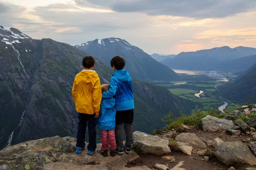
[[[99,113],[100,109],[100,102],[102,99],[102,91],[101,91],[101,85],[100,85],[100,80],[99,77],[94,80],[94,85],[93,85],[93,107],[95,113]]]

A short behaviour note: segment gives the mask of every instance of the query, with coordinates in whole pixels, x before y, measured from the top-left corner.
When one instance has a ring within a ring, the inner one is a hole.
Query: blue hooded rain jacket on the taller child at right
[[[134,94],[132,91],[132,79],[125,69],[113,72],[108,91],[102,93],[102,99],[115,97],[116,111],[134,109]]]

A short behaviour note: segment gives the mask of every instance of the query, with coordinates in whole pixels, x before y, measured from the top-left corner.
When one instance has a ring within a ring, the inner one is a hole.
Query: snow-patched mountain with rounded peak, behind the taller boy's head
[[[179,77],[173,70],[157,62],[142,49],[120,38],[96,39],[76,45],[76,48],[99,58],[106,65],[110,65],[111,58],[116,55],[124,57],[127,62],[125,69],[134,79],[171,81]]]

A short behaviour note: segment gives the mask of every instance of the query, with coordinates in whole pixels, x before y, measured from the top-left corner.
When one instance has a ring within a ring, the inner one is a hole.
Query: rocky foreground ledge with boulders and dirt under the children
[[[54,136],[0,150],[0,170],[256,170],[256,105],[219,119],[205,116],[201,128],[181,125],[157,135],[134,132],[134,151],[103,157],[75,154],[76,139]],[[245,113],[244,110],[248,110]],[[234,117],[233,117],[234,118]]]

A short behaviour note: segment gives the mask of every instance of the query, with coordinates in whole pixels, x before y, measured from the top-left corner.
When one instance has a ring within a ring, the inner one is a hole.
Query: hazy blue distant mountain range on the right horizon
[[[250,68],[256,63],[256,48],[228,46],[200,50],[195,52],[182,52],[173,59],[164,59],[161,63],[172,69],[197,71],[241,71]],[[250,57],[249,57],[250,56]],[[241,61],[247,62],[243,67]]]

